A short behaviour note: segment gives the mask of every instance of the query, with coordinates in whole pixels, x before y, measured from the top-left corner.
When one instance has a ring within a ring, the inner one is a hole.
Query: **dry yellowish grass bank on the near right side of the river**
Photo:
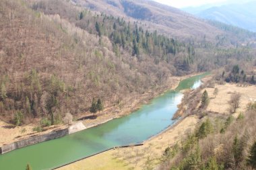
[[[150,166],[155,167],[160,163],[165,148],[193,132],[198,122],[197,116],[184,116],[173,126],[144,141],[143,146],[116,148],[59,169],[146,169],[148,162],[152,164]],[[99,165],[98,160],[104,161],[100,161]]]

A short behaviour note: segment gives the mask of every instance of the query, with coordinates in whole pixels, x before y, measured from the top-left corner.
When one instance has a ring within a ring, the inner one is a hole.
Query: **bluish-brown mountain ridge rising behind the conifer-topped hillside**
[[[129,18],[131,22],[137,19],[147,25],[148,30],[158,30],[178,39],[215,40],[222,30],[207,24],[202,19],[185,13],[180,9],[146,0],[72,0],[73,3],[93,11],[100,11],[115,17]]]

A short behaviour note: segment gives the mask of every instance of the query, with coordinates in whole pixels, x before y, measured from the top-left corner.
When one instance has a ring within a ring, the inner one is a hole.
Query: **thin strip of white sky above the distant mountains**
[[[154,0],[159,3],[163,3],[166,5],[170,5],[172,7],[178,7],[178,8],[183,8],[183,7],[197,7],[201,5],[207,5],[207,4],[221,4],[221,3],[226,3],[227,1],[230,3],[234,2],[237,3],[239,1],[237,0]],[[250,1],[250,0],[243,0],[243,1]]]

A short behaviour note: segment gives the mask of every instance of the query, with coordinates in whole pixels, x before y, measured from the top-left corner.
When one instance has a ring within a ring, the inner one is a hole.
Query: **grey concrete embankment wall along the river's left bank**
[[[44,142],[46,140],[59,138],[59,137],[65,136],[67,134],[69,134],[69,129],[65,128],[63,130],[56,130],[56,131],[50,132],[49,134],[33,136],[31,138],[20,140],[18,142],[13,142],[11,144],[5,144],[0,148],[0,154],[7,153],[7,152],[13,151],[17,148],[22,148],[24,146],[29,146],[31,144],[36,144],[39,142]]]

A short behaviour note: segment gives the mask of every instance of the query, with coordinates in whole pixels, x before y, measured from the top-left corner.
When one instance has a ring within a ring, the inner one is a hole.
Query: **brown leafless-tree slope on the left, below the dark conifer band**
[[[170,86],[166,80],[176,69],[164,60],[154,62],[145,52],[139,60],[128,45],[117,54],[108,37],[90,34],[63,15],[44,15],[27,5],[1,1],[0,113],[4,120],[15,124],[32,118],[61,120],[67,112],[88,111],[93,97],[111,106],[123,97]],[[80,14],[73,12],[75,17]]]

